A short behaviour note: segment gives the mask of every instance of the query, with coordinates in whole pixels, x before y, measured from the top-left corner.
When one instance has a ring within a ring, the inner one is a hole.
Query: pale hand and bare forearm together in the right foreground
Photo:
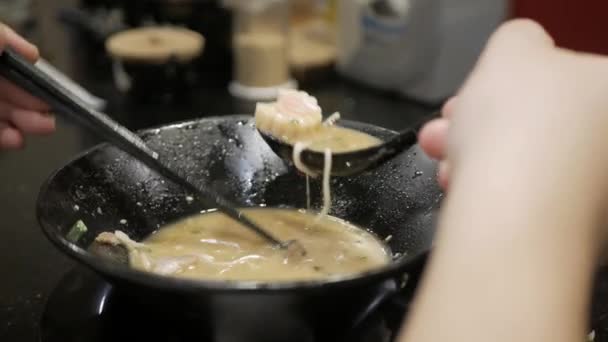
[[[608,203],[608,57],[506,23],[420,144],[449,191],[401,341],[582,339]]]

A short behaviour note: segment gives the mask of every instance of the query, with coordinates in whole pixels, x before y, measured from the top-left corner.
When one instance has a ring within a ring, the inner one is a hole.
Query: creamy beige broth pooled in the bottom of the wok
[[[211,212],[152,234],[131,253],[131,264],[185,278],[294,281],[357,274],[390,261],[390,251],[374,235],[343,220],[303,210],[243,211],[279,239],[297,240],[306,256],[288,258],[284,250]]]

